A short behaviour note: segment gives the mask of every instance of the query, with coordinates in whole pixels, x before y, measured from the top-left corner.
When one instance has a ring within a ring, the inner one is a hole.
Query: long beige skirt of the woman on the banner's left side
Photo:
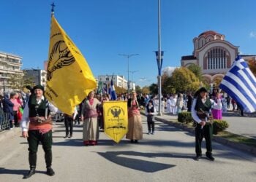
[[[97,117],[86,118],[83,121],[83,141],[99,139],[99,124]]]

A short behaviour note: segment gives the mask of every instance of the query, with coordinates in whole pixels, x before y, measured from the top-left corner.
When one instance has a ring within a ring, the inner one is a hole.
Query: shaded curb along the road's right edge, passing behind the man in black
[[[191,133],[195,134],[195,129],[194,128],[190,128],[190,127],[187,127],[185,125],[178,124],[178,123],[173,123],[171,121],[167,121],[167,119],[162,119],[162,118],[159,118],[157,116],[155,116],[154,119],[159,121],[159,122],[163,122],[165,124],[170,124],[173,127],[177,127],[181,130],[185,130],[185,131],[188,131],[188,132],[191,132]],[[233,141],[228,141],[227,139],[219,137],[217,135],[214,135],[213,141],[215,141],[217,143],[221,143],[225,146],[230,146],[231,148],[237,149],[239,151],[245,151],[249,154],[253,154],[253,155],[256,156],[256,148],[253,147],[253,146],[246,146],[245,144],[242,144],[242,143],[236,143],[236,142],[233,142]]]

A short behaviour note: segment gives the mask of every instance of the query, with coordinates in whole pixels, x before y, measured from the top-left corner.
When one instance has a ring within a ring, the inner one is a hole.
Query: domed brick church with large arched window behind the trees
[[[214,84],[222,79],[238,55],[238,46],[225,40],[225,35],[215,31],[205,31],[193,39],[192,55],[181,57],[181,66],[200,66],[204,79]],[[256,55],[241,55],[244,60],[256,59]]]

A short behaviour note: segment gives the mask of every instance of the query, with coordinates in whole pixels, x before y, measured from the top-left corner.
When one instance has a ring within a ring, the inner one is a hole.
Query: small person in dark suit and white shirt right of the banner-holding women
[[[153,106],[153,100],[148,101],[148,105],[146,106],[146,116],[147,116],[147,123],[148,123],[148,135],[151,133],[154,135],[154,115],[157,113],[155,112],[155,108]]]

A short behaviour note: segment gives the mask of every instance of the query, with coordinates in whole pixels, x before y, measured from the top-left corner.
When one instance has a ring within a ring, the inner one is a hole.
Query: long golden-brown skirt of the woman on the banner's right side
[[[127,139],[141,140],[142,139],[142,123],[140,114],[132,114],[128,119]]]

